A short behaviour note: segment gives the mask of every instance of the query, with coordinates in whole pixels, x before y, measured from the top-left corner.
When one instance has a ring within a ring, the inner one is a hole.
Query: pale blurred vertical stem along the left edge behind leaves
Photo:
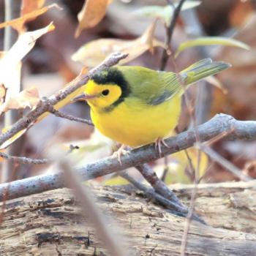
[[[4,12],[5,12],[5,20],[12,20],[14,18],[18,18],[20,15],[20,5],[21,0],[5,0],[4,1]],[[4,28],[4,51],[10,50],[12,45],[15,43],[18,37],[17,32],[12,29],[11,26],[6,26]],[[4,115],[4,127],[8,127],[15,123],[19,118],[17,110],[10,110]],[[7,148],[7,154],[17,155],[20,153],[20,146],[17,143],[15,145],[11,145]],[[4,161],[1,181],[11,181],[12,173],[14,170],[14,163],[12,161]]]

